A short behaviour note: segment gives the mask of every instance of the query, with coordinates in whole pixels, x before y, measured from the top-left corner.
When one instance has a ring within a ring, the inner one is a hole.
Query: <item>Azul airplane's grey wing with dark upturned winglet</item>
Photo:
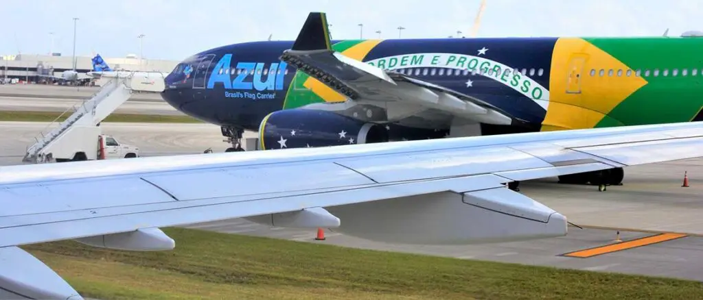
[[[310,13],[292,48],[285,50],[280,59],[348,97],[354,104],[382,107],[390,116],[402,114],[402,111],[408,111],[409,105],[415,105],[480,123],[527,123],[476,97],[408,74],[384,71],[336,52],[330,46],[328,32],[325,13]],[[348,107],[349,104],[312,104],[310,108],[338,109],[343,113]]]

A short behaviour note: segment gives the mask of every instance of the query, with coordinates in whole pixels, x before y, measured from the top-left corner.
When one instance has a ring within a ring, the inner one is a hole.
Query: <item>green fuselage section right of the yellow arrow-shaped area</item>
[[[647,81],[614,107],[608,114],[610,118],[603,118],[596,127],[687,122],[703,107],[703,38],[595,38],[586,41],[631,69],[641,70]],[[657,76],[654,76],[655,70],[658,70]]]

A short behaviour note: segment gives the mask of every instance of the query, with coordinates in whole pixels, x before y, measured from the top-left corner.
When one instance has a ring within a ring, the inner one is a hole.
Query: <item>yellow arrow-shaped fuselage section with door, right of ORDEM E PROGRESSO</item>
[[[593,69],[595,76],[591,75]],[[600,69],[604,76],[600,76]],[[608,74],[610,70],[612,76]],[[622,70],[621,76],[617,76],[618,70]],[[631,70],[631,76],[626,76],[627,70]],[[594,128],[614,107],[646,84],[635,70],[588,41],[557,39],[550,71],[549,107],[542,130]]]

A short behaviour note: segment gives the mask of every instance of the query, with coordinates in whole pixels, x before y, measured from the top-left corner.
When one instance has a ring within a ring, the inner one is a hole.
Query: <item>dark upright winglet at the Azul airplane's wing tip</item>
[[[310,13],[291,50],[332,50],[325,13]]]

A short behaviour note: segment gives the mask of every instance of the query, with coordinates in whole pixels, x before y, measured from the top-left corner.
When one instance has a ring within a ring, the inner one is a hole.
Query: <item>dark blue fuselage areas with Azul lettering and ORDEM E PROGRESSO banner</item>
[[[546,110],[529,96],[548,97],[555,41],[385,40],[365,49],[361,60],[477,97],[538,128]],[[333,41],[333,45],[348,47],[347,44],[362,42]],[[279,59],[291,46],[292,41],[262,41],[203,51],[183,60],[167,76],[162,97],[179,111],[202,121],[255,131],[269,113],[309,104],[305,95],[310,90],[299,88],[302,83],[294,82],[296,69]],[[348,49],[357,52],[349,54],[352,56],[364,50]],[[496,67],[522,70],[523,76],[503,76]],[[476,74],[471,69],[491,74]],[[494,70],[496,74],[492,74]]]

